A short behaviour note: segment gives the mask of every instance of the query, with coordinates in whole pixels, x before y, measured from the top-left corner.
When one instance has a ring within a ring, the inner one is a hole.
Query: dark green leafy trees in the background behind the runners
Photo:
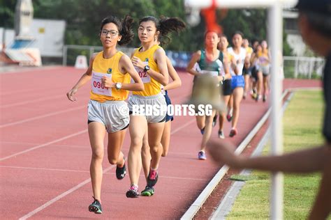
[[[15,0],[0,0],[0,26],[13,27]],[[41,19],[64,19],[66,21],[66,45],[100,45],[98,37],[101,19],[108,15],[124,17],[131,15],[138,21],[147,15],[159,17],[179,17],[185,21],[184,0],[33,0],[34,17]],[[230,36],[237,30],[242,31],[250,40],[266,38],[266,10],[241,9],[218,10],[218,22],[224,33]],[[221,17],[225,16],[224,19]],[[201,17],[198,26],[188,26],[181,33],[172,33],[172,41],[165,49],[176,51],[196,51],[204,46],[205,21]],[[137,47],[139,40],[131,42],[129,47]]]

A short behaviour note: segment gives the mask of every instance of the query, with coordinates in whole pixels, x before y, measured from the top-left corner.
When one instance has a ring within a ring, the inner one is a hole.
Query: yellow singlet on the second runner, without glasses
[[[138,49],[135,49],[135,52],[133,56],[137,56],[140,58],[142,62],[145,63],[145,65],[149,65],[149,68],[156,72],[160,72],[157,63],[154,61],[154,52],[156,49],[161,48],[159,45],[154,45],[153,47],[147,49],[145,52],[139,52],[139,47]],[[144,91],[133,91],[133,95],[142,95],[142,96],[151,96],[151,95],[157,95],[161,93],[161,84],[153,79],[152,77],[149,76],[144,70],[140,68],[135,68],[137,70],[140,78],[142,79],[142,82],[144,83],[145,90]]]

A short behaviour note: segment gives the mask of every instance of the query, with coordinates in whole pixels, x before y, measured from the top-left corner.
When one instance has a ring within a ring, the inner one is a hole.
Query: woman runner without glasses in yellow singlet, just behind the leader
[[[148,16],[140,19],[138,27],[138,37],[141,47],[135,49],[132,55],[132,63],[138,70],[145,90],[133,92],[128,100],[128,107],[133,111],[135,107],[145,107],[147,105],[166,109],[165,98],[161,93],[161,85],[168,84],[168,68],[165,52],[159,46],[157,39],[162,39],[170,31],[178,31],[184,28],[185,24],[177,18],[162,18]],[[162,40],[161,40],[162,42]],[[141,149],[145,132],[148,132],[148,143],[152,156],[147,186],[151,195],[154,194],[159,173],[159,162],[162,154],[161,137],[164,129],[166,111],[148,115],[147,112],[137,115],[132,112],[130,115],[131,125],[129,127],[131,135],[131,146],[128,152],[128,168],[131,180],[131,187],[126,192],[128,198],[138,197],[138,180],[142,168]]]

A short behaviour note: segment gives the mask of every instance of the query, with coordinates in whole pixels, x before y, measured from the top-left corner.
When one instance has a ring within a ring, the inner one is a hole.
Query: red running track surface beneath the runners
[[[0,74],[0,194],[1,219],[179,219],[203,191],[219,166],[199,161],[201,134],[191,116],[172,122],[168,157],[161,159],[160,178],[152,197],[126,198],[129,178],[117,180],[115,166],[104,159],[103,214],[88,212],[92,202],[87,134],[89,85],[70,102],[66,92],[82,70],[39,68]],[[182,88],[170,91],[174,104],[191,92],[191,75],[180,72]],[[286,80],[285,88],[320,87],[320,81]],[[267,111],[268,104],[248,99],[241,105],[239,144]],[[217,136],[214,127],[212,136]],[[225,125],[226,138],[230,123]],[[127,132],[123,150],[129,146]],[[105,151],[106,152],[106,151]],[[145,180],[140,175],[140,190]]]

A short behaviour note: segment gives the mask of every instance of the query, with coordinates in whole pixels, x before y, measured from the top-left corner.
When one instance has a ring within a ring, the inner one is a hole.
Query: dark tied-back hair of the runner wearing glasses
[[[122,36],[121,40],[119,40],[119,45],[127,45],[131,40],[133,40],[133,31],[132,31],[132,24],[133,24],[133,18],[129,15],[126,15],[122,21],[119,21],[119,19],[115,16],[108,16],[105,17],[100,26],[100,33],[103,29],[103,26],[108,23],[113,23],[117,26],[117,29],[119,30],[119,35]]]

